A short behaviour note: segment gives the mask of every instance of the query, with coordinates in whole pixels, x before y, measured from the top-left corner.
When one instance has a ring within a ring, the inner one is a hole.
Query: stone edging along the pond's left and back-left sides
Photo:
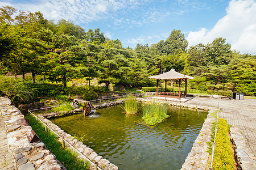
[[[96,108],[96,109],[105,108],[105,107],[109,107],[112,105],[118,105],[123,102],[124,102],[124,100],[112,101],[109,103],[94,105],[94,108]],[[96,152],[93,151],[92,148],[87,147],[82,142],[77,141],[77,139],[73,138],[70,134],[65,133],[65,131],[60,129],[59,126],[53,124],[50,120],[47,119],[47,118],[65,116],[65,115],[68,115],[71,113],[79,113],[79,112],[81,113],[81,109],[75,109],[74,111],[64,112],[62,114],[60,112],[55,112],[55,113],[50,113],[50,114],[39,114],[38,118],[40,118],[40,120],[42,120],[45,124],[47,124],[50,128],[52,128],[57,134],[59,134],[66,141],[68,141],[68,143],[70,143],[73,147],[75,147],[77,150],[79,150],[81,152],[81,154],[86,156],[92,162],[97,162],[98,166],[100,168],[105,169],[105,170],[108,170],[108,169],[117,170],[118,167],[116,165],[110,163],[109,160],[103,159],[102,156],[99,156]],[[65,146],[69,147],[67,145],[67,143]],[[71,148],[71,150],[73,150],[73,149]]]

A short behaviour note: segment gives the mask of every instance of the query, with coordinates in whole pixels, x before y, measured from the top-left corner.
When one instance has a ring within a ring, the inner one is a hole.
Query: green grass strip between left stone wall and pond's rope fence
[[[45,131],[44,126],[37,122],[35,117],[26,116],[29,120],[32,129],[38,135],[38,137],[43,141],[46,147],[56,156],[65,168],[67,169],[89,169],[89,163],[77,158],[77,155],[69,150],[68,148],[63,148],[61,143],[58,142],[57,136],[50,131]]]

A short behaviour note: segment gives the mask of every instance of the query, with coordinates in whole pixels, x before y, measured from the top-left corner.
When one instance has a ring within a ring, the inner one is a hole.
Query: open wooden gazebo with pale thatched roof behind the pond
[[[163,73],[163,74],[149,76],[148,78],[156,79],[156,96],[159,96],[159,95],[164,95],[164,96],[169,95],[172,97],[177,96],[178,99],[180,99],[180,97],[182,96],[182,92],[180,93],[181,80],[183,80],[185,82],[184,96],[187,96],[187,80],[194,79],[192,76],[177,73],[174,69],[171,69],[170,71]],[[165,92],[158,92],[159,80],[164,80],[164,82],[166,83],[165,84]],[[179,93],[178,94],[176,94],[175,92],[166,92],[166,85],[167,85],[168,80],[179,80]]]

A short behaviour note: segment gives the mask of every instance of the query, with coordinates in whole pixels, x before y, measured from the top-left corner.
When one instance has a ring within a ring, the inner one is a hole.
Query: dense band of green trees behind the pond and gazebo
[[[195,77],[191,89],[237,91],[255,96],[256,56],[231,50],[224,37],[208,44],[188,46],[180,30],[172,30],[156,44],[123,48],[120,40],[110,40],[71,20],[47,20],[42,12],[0,8],[0,74],[32,74],[32,82],[60,82],[67,87],[72,79],[98,78],[115,89],[153,87],[148,76],[175,71]]]

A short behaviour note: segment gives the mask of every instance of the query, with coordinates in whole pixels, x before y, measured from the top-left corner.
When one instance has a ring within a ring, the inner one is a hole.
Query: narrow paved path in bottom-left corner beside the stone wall
[[[8,152],[5,121],[2,115],[0,115],[0,169],[17,169],[14,156]]]

